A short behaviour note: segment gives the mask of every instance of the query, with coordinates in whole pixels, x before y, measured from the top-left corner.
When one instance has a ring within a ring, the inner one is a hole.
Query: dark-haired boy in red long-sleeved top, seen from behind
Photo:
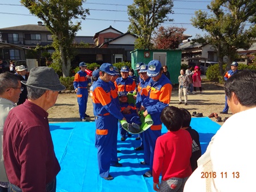
[[[187,131],[181,129],[182,112],[177,107],[165,107],[160,118],[168,131],[158,137],[155,144],[153,189],[162,192],[183,191],[185,182],[192,173],[192,139]],[[162,181],[159,183],[161,173]]]

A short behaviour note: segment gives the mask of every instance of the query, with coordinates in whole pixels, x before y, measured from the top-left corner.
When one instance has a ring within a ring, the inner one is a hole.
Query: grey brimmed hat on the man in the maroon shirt
[[[59,81],[57,73],[51,67],[34,67],[30,70],[27,81],[21,82],[29,87],[51,91],[62,91],[66,89]]]

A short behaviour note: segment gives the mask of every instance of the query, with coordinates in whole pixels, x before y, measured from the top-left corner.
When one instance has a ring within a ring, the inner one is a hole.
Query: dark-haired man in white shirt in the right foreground
[[[234,114],[211,139],[184,191],[253,191],[255,189],[256,71],[243,70],[225,83]]]

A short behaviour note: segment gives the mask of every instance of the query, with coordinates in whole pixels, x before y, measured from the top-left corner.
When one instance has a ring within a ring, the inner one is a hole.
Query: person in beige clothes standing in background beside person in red
[[[179,81],[179,103],[180,105],[182,103],[182,92],[184,94],[185,99],[185,105],[187,105],[187,87],[189,87],[189,76],[185,74],[185,69],[181,69],[181,75],[178,77]]]

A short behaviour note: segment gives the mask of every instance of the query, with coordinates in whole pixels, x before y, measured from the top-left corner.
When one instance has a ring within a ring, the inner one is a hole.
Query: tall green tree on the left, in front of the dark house
[[[72,43],[81,21],[73,23],[73,19],[85,19],[88,9],[83,9],[84,0],[21,0],[30,13],[42,19],[53,35],[55,61],[61,62],[63,77],[69,77],[71,59],[73,58]],[[53,58],[54,58],[53,55]],[[58,55],[58,57],[56,57]],[[58,61],[59,60],[59,61]]]

